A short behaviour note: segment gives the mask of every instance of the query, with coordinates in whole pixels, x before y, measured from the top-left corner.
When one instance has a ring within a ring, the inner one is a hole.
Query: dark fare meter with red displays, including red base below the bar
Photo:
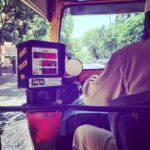
[[[65,45],[30,40],[17,45],[18,87],[25,88],[25,105],[57,103],[63,85]],[[27,112],[34,149],[53,149],[62,112]],[[44,143],[44,144],[43,144]]]

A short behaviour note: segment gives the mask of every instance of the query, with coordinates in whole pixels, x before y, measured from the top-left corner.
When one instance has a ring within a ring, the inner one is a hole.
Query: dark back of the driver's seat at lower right
[[[118,98],[111,106],[150,105],[150,91]],[[150,111],[109,114],[117,150],[150,150]]]

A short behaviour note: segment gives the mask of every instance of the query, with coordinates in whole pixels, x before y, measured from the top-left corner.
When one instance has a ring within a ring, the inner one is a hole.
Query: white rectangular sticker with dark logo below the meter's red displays
[[[61,86],[62,78],[30,78],[29,88]]]

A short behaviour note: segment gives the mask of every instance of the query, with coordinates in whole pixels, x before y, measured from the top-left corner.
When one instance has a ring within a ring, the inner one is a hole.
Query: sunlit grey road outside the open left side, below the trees
[[[0,77],[0,106],[19,106],[26,101],[25,91],[17,88],[17,76]],[[32,150],[27,120],[24,113],[0,114],[2,150]]]

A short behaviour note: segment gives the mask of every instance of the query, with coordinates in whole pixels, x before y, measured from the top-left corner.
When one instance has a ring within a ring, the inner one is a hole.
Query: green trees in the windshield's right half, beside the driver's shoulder
[[[144,15],[119,14],[110,26],[89,30],[83,37],[83,45],[93,55],[93,59],[109,57],[114,51],[142,40]]]

